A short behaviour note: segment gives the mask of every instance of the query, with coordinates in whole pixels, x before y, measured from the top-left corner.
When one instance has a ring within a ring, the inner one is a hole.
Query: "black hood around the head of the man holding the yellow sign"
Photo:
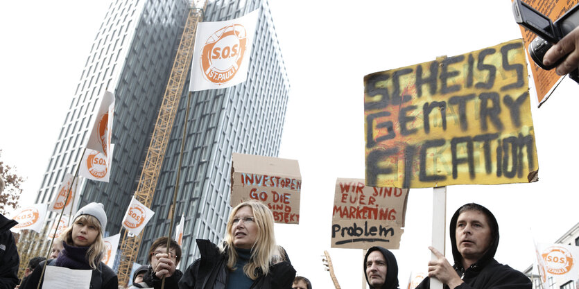
[[[454,268],[461,268],[463,270],[467,268],[463,268],[463,256],[460,255],[460,252],[458,252],[458,249],[456,248],[456,234],[454,234],[454,232],[456,232],[456,221],[458,220],[458,215],[460,215],[459,212],[461,209],[465,207],[472,208],[467,209],[467,211],[475,210],[475,211],[482,211],[483,213],[485,213],[491,228],[492,243],[490,244],[489,249],[487,249],[487,252],[485,252],[483,257],[478,261],[476,261],[476,264],[484,266],[486,263],[488,263],[488,261],[491,261],[494,258],[494,254],[496,253],[496,248],[499,247],[499,223],[496,222],[496,218],[494,218],[494,215],[487,208],[481,206],[480,204],[475,203],[465,204],[462,207],[458,208],[458,210],[454,212],[454,215],[450,220],[449,232],[452,247],[452,256],[454,258]]]

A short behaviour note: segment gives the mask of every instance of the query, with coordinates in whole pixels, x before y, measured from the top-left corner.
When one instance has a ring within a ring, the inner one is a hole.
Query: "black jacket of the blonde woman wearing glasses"
[[[179,281],[180,289],[225,289],[229,269],[227,255],[209,240],[197,240],[201,258],[197,259],[183,273]],[[270,272],[258,277],[251,288],[256,289],[291,289],[295,270],[286,259],[281,263],[270,265]]]

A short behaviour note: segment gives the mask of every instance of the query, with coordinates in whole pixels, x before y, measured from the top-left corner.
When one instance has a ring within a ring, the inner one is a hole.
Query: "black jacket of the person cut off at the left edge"
[[[0,289],[14,289],[18,284],[20,258],[10,231],[17,224],[0,214]]]

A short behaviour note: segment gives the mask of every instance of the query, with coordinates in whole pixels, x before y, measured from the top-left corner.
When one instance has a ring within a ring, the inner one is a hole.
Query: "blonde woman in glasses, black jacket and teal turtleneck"
[[[273,214],[256,200],[238,204],[218,247],[197,240],[201,258],[184,272],[180,289],[289,289],[295,277],[285,250],[275,243]]]

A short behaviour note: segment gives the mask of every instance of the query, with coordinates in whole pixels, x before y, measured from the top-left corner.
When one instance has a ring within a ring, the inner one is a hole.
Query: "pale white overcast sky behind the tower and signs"
[[[361,249],[331,249],[337,177],[364,177],[363,76],[459,55],[521,38],[510,1],[270,0],[291,83],[279,157],[302,173],[300,225],[276,225],[297,274],[334,288],[322,265],[328,250],[342,288],[363,282]],[[40,189],[51,150],[109,1],[0,4],[0,149],[26,177],[22,204]],[[447,187],[447,224],[467,202],[499,222],[496,259],[525,270],[533,238],[553,243],[579,221],[576,188],[578,85],[563,80],[537,109],[530,80],[539,182]],[[426,270],[433,189],[411,189],[399,249],[399,283]],[[448,233],[447,233],[448,234]],[[447,238],[446,256],[451,259]]]

